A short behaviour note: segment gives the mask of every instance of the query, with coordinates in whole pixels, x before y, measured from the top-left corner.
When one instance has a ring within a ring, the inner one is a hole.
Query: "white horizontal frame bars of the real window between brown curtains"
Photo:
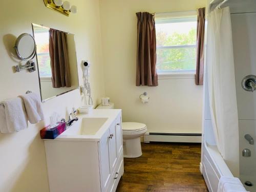
[[[169,20],[175,18],[182,20],[197,21],[197,11],[183,11],[183,12],[169,12],[169,13],[156,13],[155,24],[170,23]],[[181,23],[181,22],[180,22]],[[180,46],[158,46],[158,49],[177,49],[177,48],[196,48],[195,45],[180,45]],[[182,71],[162,71],[157,72],[160,79],[169,78],[195,78],[196,70],[182,70]]]

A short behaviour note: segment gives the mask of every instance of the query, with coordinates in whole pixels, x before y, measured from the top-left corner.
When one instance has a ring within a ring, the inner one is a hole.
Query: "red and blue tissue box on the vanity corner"
[[[40,131],[41,139],[55,139],[66,130],[65,122],[58,122],[58,125],[50,128],[50,125]]]

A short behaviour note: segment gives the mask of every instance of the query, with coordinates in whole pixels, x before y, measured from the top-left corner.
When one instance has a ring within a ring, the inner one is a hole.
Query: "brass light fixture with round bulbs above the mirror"
[[[69,16],[71,12],[77,12],[76,6],[70,6],[70,3],[67,1],[62,2],[62,0],[44,0],[44,2],[46,7],[48,7],[49,9],[53,9],[67,16]]]

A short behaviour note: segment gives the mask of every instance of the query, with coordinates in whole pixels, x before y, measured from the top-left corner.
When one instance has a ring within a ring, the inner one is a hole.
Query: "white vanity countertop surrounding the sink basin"
[[[111,124],[115,121],[117,116],[121,113],[121,110],[106,110],[106,109],[95,109],[90,112],[90,114],[78,114],[78,121],[74,122],[71,126],[67,127],[67,130],[61,133],[55,139],[44,139],[45,141],[100,141],[100,138],[105,133],[107,129],[111,126]],[[95,135],[69,135],[68,131],[72,131],[70,129],[77,129],[77,126],[80,126],[81,120],[83,118],[108,118],[104,124],[100,127]]]

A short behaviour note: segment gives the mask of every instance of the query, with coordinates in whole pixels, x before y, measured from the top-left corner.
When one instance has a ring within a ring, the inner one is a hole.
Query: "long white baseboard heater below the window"
[[[144,142],[181,142],[201,143],[202,134],[199,133],[153,133],[147,132],[144,135]]]

